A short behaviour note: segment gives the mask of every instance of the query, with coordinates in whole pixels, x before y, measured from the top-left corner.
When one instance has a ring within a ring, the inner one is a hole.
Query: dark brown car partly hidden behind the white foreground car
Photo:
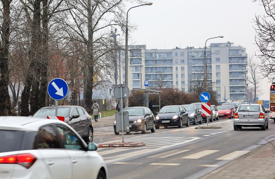
[[[32,117],[47,118],[55,116],[56,106],[38,109]],[[86,142],[93,142],[92,118],[81,106],[58,106],[57,116],[64,116],[65,121],[79,133]]]

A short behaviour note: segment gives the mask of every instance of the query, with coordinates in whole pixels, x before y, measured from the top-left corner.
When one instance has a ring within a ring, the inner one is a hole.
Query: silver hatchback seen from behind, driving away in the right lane
[[[241,104],[234,114],[234,130],[241,130],[242,127],[261,127],[261,130],[268,129],[268,115],[261,104]]]

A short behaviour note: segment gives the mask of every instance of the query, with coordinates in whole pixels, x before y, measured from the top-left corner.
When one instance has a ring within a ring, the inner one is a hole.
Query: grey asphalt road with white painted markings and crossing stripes
[[[269,120],[269,129],[265,131],[260,128],[234,131],[232,119],[209,123],[222,129],[194,129],[198,125],[161,127],[155,133],[149,130],[146,134],[124,135],[124,142],[144,142],[143,147],[99,148],[109,178],[200,178],[264,144],[264,139],[275,138],[273,120]],[[122,135],[115,136],[112,126],[99,128],[98,132],[110,135],[95,136],[94,142],[122,142]]]

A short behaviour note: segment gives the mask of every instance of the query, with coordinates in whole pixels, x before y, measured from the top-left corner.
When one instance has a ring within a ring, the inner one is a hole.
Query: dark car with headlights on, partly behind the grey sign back
[[[130,132],[139,132],[145,134],[147,130],[151,130],[152,133],[156,131],[156,121],[154,114],[147,107],[128,107],[123,111],[129,112],[129,128]],[[115,135],[119,135],[116,132],[116,120],[114,121]],[[130,133],[127,132],[127,133]]]

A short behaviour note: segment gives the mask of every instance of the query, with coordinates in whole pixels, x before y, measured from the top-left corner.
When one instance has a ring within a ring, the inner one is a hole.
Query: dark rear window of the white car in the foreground
[[[34,149],[37,132],[0,130],[0,153]]]

